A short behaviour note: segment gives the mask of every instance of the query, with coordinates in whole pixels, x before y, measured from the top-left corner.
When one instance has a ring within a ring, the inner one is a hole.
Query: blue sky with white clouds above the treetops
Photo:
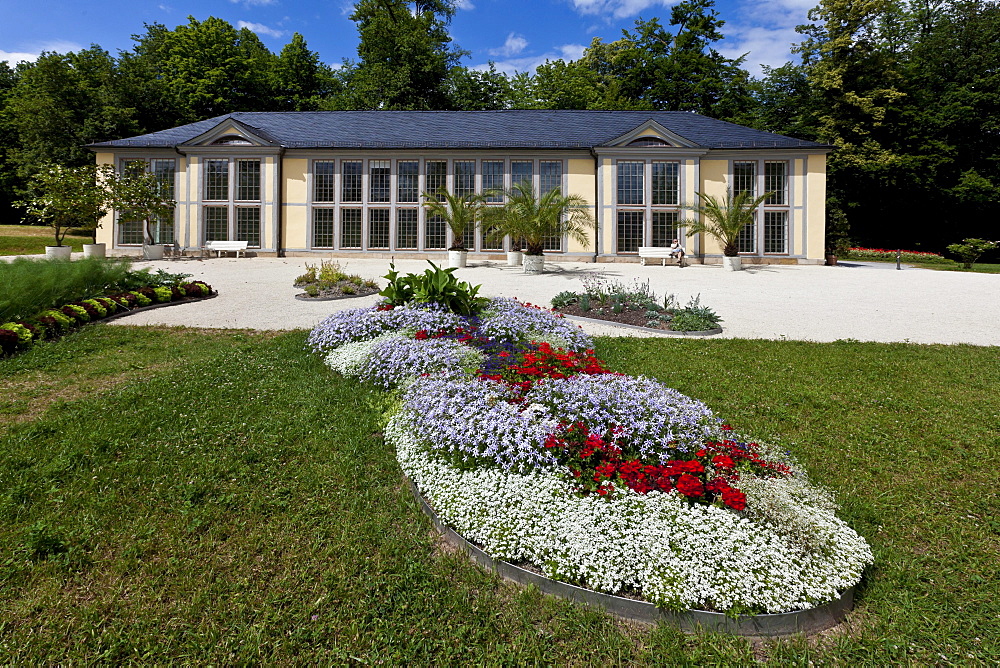
[[[0,0],[0,60],[33,60],[43,50],[75,51],[99,44],[112,53],[132,47],[144,23],[173,28],[217,16],[249,27],[279,51],[293,32],[336,65],[355,58],[357,32],[349,0]],[[464,64],[494,61],[505,72],[531,71],[546,59],[578,58],[594,37],[612,41],[637,18],[669,20],[672,0],[459,0],[451,26],[454,42],[470,51]],[[795,26],[818,0],[717,0],[726,21],[720,50],[749,52],[746,67],[781,65],[799,40]]]

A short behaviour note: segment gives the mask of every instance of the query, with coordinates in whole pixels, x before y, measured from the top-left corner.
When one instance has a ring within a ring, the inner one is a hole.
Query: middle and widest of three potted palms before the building
[[[524,240],[526,274],[544,271],[547,237],[568,235],[581,244],[590,241],[587,232],[594,217],[590,204],[579,195],[563,195],[559,188],[553,188],[539,197],[530,183],[520,181],[507,191],[505,200],[502,207],[487,209],[483,220],[494,239],[510,236]]]

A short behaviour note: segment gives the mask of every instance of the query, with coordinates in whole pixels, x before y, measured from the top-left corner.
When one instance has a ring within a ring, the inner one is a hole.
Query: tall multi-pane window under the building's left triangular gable
[[[246,241],[261,247],[261,161],[206,158],[203,223],[205,241]]]

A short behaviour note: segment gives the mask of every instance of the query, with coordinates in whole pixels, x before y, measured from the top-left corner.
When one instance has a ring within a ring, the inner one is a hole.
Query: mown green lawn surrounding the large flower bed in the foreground
[[[7,662],[1000,661],[995,349],[600,341],[779,438],[872,543],[847,625],[751,642],[616,622],[441,550],[385,396],[304,339],[99,324],[0,361]]]

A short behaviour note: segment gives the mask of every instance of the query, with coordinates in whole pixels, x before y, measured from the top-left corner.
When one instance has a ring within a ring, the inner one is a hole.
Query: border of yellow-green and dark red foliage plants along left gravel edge
[[[155,286],[64,304],[26,320],[0,323],[0,356],[27,350],[36,341],[55,339],[77,327],[156,304],[200,299],[212,294],[204,281]]]

